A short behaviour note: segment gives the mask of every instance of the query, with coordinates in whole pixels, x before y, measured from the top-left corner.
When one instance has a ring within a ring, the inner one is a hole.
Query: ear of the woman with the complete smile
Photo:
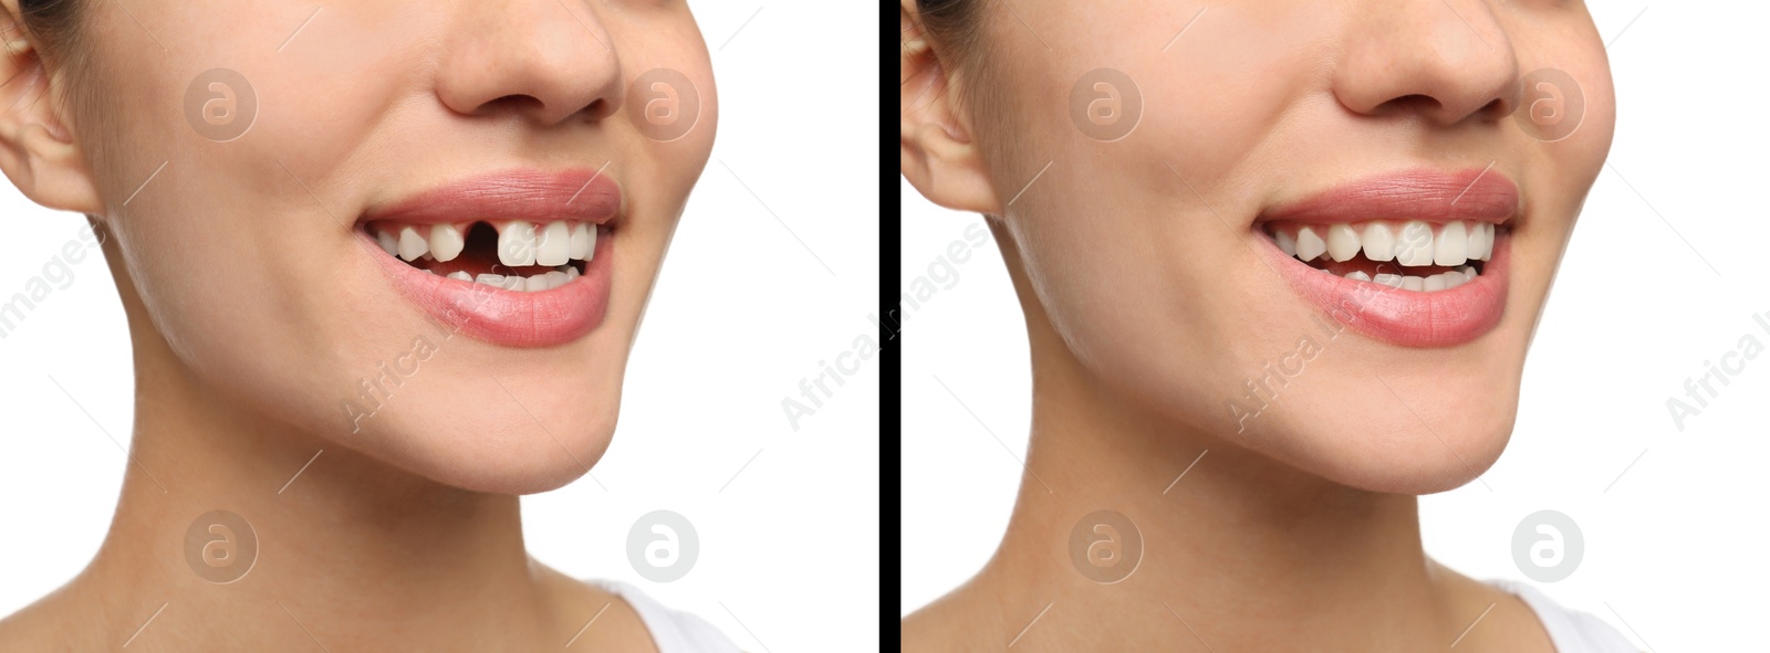
[[[915,0],[899,2],[903,177],[929,202],[947,209],[1002,214],[989,170],[970,136],[970,115],[954,97],[952,67],[935,53]]]

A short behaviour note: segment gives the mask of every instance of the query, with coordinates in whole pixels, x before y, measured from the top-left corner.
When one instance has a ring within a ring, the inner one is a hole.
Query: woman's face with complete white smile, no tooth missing
[[[972,138],[1002,237],[1089,373],[1354,487],[1435,492],[1497,458],[1611,143],[1581,4],[981,18],[982,64],[959,73]]]

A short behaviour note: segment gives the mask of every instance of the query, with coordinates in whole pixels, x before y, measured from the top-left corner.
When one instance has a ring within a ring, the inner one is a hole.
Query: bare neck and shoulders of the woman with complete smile
[[[1517,596],[1427,557],[1416,497],[1175,434],[1101,393],[1043,319],[1028,331],[1032,446],[1007,534],[965,586],[903,619],[904,651],[1554,651]],[[1071,529],[1101,508],[1145,543],[1115,584],[1069,557]]]

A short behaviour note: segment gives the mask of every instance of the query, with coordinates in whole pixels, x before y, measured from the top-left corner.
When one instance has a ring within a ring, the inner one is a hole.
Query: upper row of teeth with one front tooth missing
[[[467,228],[455,225],[384,225],[375,228],[375,242],[391,257],[418,260],[425,255],[435,260],[455,260],[467,246]],[[492,223],[497,228],[497,262],[504,265],[565,265],[570,260],[591,260],[596,255],[596,225],[579,221],[552,221],[535,225],[522,219]]]

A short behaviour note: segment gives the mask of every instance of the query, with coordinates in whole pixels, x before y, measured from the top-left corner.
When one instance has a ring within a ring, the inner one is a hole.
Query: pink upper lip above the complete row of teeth
[[[1358,223],[1420,219],[1427,223],[1506,223],[1519,212],[1519,186],[1497,170],[1416,168],[1365,177],[1266,211],[1255,221]]]

